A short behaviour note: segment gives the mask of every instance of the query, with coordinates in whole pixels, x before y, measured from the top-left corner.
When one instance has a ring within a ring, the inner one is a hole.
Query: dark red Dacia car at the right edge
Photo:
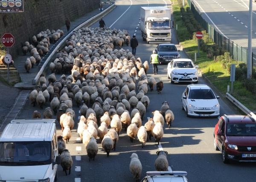
[[[214,147],[222,160],[256,162],[256,121],[253,117],[224,115],[214,129]]]

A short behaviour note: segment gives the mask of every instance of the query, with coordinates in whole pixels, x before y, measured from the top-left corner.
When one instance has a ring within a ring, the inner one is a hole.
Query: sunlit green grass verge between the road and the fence
[[[188,6],[187,3],[186,6]],[[198,51],[198,45],[195,43],[195,40],[189,38],[192,35],[189,34],[186,25],[180,17],[181,12],[178,0],[174,0],[172,9],[175,23],[178,25],[177,36],[180,40],[180,44],[183,46],[183,49],[189,57],[195,60],[195,53]],[[209,59],[207,53],[204,51],[200,51],[200,57],[197,58],[196,64],[213,85],[215,85],[222,94],[226,94],[227,85],[231,85],[230,74],[227,69],[222,68],[221,63],[216,63],[213,59]],[[256,111],[256,95],[248,91],[241,81],[234,82],[233,97],[239,100],[239,102],[251,111]]]

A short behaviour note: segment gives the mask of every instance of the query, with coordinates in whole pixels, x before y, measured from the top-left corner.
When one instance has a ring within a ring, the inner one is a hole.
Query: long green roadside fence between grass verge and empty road
[[[242,46],[237,45],[232,40],[220,34],[215,30],[213,26],[211,26],[204,18],[201,16],[198,7],[191,0],[188,0],[188,4],[190,6],[191,11],[195,15],[195,19],[201,24],[201,26],[207,31],[210,39],[213,43],[218,45],[219,48],[230,52],[230,55],[234,60],[247,63],[247,48],[243,48]],[[256,67],[256,54],[253,54],[253,66]]]

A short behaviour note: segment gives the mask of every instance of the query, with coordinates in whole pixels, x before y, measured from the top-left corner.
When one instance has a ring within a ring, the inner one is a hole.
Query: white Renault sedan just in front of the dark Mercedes
[[[198,65],[190,59],[174,59],[167,66],[167,77],[171,82],[198,82]]]

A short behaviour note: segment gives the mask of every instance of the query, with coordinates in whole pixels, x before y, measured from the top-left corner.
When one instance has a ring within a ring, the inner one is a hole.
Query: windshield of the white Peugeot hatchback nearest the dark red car
[[[192,89],[189,99],[215,99],[215,96],[211,89]]]

